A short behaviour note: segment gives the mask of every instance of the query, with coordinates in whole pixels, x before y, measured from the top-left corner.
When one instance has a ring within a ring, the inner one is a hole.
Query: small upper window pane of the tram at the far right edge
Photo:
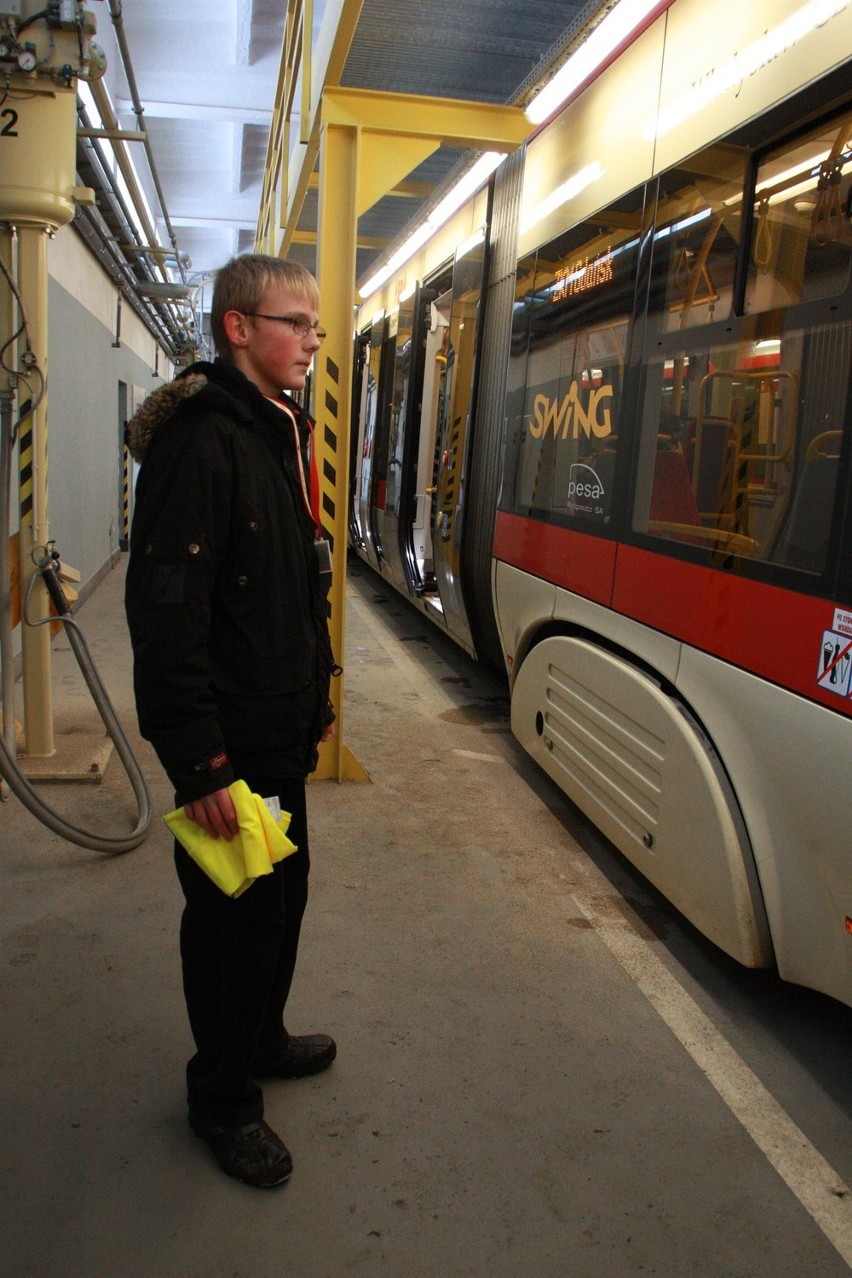
[[[852,257],[852,115],[770,152],[757,169],[746,314],[837,296]]]

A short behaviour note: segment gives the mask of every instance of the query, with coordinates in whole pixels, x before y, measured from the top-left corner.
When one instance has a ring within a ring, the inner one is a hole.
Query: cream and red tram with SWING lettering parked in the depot
[[[848,1005],[851,51],[664,6],[364,302],[350,506],[616,847]]]

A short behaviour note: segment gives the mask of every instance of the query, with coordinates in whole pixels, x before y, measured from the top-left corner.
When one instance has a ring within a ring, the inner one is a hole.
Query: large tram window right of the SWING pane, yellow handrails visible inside
[[[660,178],[634,529],[729,570],[772,564],[819,575],[828,566],[849,396],[849,231],[815,244],[814,212],[796,204],[816,189],[820,156],[837,158],[848,132],[847,116],[760,165],[749,244],[740,244],[733,148],[713,147]],[[737,161],[742,190],[746,158]],[[699,227],[703,242],[682,239]],[[749,254],[742,317],[733,305],[740,253]],[[820,305],[843,291],[847,303]]]

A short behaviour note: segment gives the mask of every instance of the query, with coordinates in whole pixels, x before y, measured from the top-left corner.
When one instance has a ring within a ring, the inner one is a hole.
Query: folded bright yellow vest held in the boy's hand
[[[192,859],[227,896],[238,897],[262,874],[271,874],[276,861],[295,852],[286,831],[290,813],[276,820],[259,795],[252,794],[244,781],[227,787],[234,800],[239,833],[229,842],[212,838],[199,824],[184,814],[183,808],[166,813],[164,820]]]

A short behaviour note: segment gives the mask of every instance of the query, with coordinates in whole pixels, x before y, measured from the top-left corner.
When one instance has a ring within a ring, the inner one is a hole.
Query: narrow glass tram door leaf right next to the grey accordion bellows
[[[474,644],[462,593],[461,562],[483,267],[484,233],[480,233],[459,249],[452,268],[432,495],[434,575],[443,619],[447,629],[470,651]]]

